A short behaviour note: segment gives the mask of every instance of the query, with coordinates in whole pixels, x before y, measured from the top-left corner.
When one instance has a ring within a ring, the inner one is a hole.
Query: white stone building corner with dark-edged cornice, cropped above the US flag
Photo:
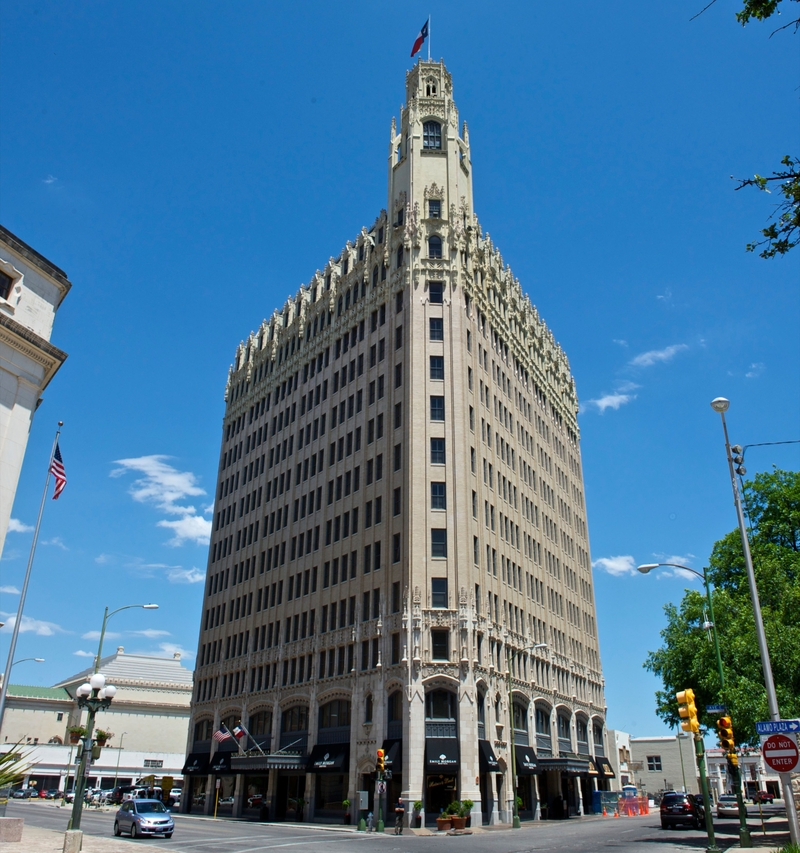
[[[70,287],[62,270],[0,225],[0,555],[33,413],[67,357],[50,335]]]

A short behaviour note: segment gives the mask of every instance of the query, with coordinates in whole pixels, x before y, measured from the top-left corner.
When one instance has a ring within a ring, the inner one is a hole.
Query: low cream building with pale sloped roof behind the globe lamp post
[[[35,766],[27,779],[40,790],[71,786],[77,749],[70,743],[70,728],[86,723],[75,691],[93,669],[54,687],[8,686],[0,751],[17,743],[32,749]],[[117,695],[109,708],[98,711],[95,729],[113,737],[91,766],[89,784],[109,787],[114,778],[127,784],[151,773],[180,778],[192,695],[192,672],[181,664],[180,655],[131,655],[120,646],[101,660],[100,672]]]

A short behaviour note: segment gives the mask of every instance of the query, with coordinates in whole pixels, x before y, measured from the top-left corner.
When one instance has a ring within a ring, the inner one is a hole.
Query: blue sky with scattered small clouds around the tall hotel
[[[466,0],[431,24],[481,225],[576,377],[608,722],[636,735],[665,731],[642,661],[691,581],[630,567],[701,568],[735,525],[709,401],[731,399],[736,442],[800,438],[800,249],[746,254],[775,197],[730,179],[797,153],[798,37],[743,29],[731,0],[690,21],[703,5]],[[192,665],[228,365],[385,206],[428,11],[0,7],[0,220],[74,285],[0,564],[18,588],[61,419],[69,484],[48,502],[17,653],[46,663],[15,682],[83,667],[106,604],[161,605],[114,617],[107,648]],[[773,464],[797,468],[797,446],[748,453],[750,472]],[[17,601],[3,592],[0,611]],[[5,661],[8,626],[0,640]]]

